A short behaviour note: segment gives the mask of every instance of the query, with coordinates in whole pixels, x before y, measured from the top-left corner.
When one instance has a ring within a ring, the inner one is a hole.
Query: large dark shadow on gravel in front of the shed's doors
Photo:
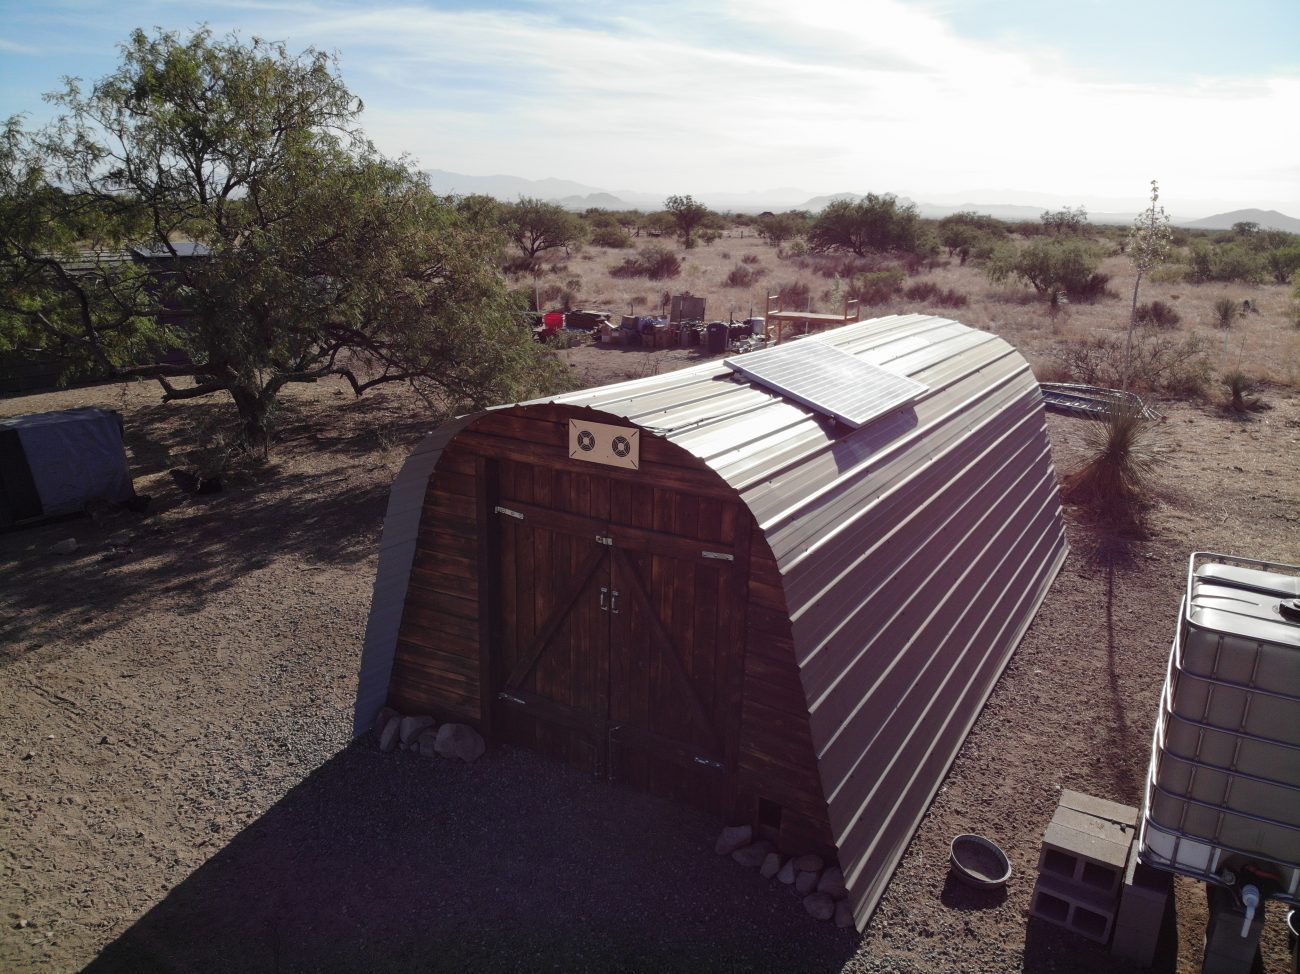
[[[712,821],[534,756],[337,754],[84,970],[832,971],[858,936]]]

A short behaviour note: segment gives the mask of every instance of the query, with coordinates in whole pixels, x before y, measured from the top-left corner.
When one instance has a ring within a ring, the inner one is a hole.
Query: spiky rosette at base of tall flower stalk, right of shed
[[[1088,459],[1066,479],[1066,498],[1113,527],[1140,525],[1150,475],[1160,462],[1157,424],[1127,401],[1115,402],[1102,419],[1091,421],[1083,433]]]

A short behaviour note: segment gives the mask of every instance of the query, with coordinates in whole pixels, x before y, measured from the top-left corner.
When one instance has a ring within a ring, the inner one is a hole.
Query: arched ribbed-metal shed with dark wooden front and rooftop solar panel
[[[490,410],[393,488],[356,732],[389,702],[753,823],[862,927],[1065,555],[1037,382],[948,319]]]

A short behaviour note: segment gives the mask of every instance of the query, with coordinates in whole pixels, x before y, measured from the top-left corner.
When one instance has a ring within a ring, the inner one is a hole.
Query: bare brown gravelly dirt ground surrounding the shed
[[[582,384],[694,360],[564,355]],[[1245,420],[1162,406],[1132,550],[1098,554],[1067,510],[1065,570],[861,936],[714,856],[693,810],[520,752],[452,766],[350,741],[387,489],[429,428],[413,399],[300,388],[270,464],[208,498],[166,471],[218,403],[147,384],[0,401],[121,410],[153,498],[0,534],[0,970],[1127,970],[1028,918],[1039,844],[1063,787],[1140,801],[1188,554],[1300,562],[1300,395],[1265,398]],[[1048,425],[1069,471],[1082,421]],[[949,878],[965,831],[1008,850],[1005,893]],[[1175,899],[1157,969],[1195,971],[1204,897]]]

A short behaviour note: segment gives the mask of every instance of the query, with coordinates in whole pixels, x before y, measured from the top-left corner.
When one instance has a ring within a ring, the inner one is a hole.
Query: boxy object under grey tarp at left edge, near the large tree
[[[112,410],[86,406],[0,420],[0,527],[133,497],[122,417]]]

